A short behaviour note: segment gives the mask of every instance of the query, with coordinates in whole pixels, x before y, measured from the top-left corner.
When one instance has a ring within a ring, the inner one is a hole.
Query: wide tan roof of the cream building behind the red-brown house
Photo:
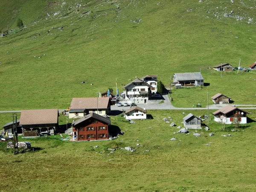
[[[108,104],[111,103],[109,97],[88,97],[88,98],[73,98],[70,104],[71,109],[107,109]]]

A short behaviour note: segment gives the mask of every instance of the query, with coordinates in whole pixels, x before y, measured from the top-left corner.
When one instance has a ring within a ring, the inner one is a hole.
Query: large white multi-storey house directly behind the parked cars
[[[131,83],[125,85],[125,99],[126,101],[136,104],[148,103],[148,97],[151,93],[151,85],[147,84],[141,79],[135,79]]]

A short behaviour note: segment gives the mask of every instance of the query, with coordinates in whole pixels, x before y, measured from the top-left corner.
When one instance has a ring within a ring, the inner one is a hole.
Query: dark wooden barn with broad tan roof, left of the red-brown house
[[[58,131],[58,109],[22,110],[20,125],[24,131],[55,134]]]

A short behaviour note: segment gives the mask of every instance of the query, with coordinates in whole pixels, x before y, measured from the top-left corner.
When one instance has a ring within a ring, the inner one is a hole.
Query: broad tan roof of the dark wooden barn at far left
[[[58,109],[22,110],[20,125],[56,124]]]

